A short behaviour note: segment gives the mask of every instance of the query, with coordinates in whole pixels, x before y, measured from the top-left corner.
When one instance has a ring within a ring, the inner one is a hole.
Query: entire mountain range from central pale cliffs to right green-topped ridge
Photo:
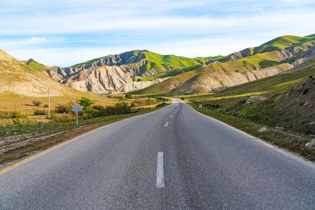
[[[194,59],[134,50],[67,68],[48,68],[52,78],[81,91],[207,93],[297,67],[313,57],[314,42],[314,35],[282,36],[227,56]]]

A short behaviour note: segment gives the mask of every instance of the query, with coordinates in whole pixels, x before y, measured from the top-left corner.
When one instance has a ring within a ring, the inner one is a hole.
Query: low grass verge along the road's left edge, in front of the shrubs
[[[14,138],[24,135],[25,138],[23,138],[23,140],[28,140],[27,144],[16,148],[15,150],[5,154],[2,158],[0,158],[0,163],[21,159],[25,156],[33,154],[36,151],[45,150],[55,144],[114,122],[162,109],[165,107],[163,104],[162,106],[155,106],[156,109],[141,108],[138,112],[126,115],[114,115],[80,120],[78,121],[78,125],[76,125],[76,122],[67,122],[35,123],[26,125],[20,124],[0,127],[0,138],[6,136],[12,136]],[[168,104],[170,104],[170,102],[167,102],[166,106]],[[39,139],[39,137],[42,138]],[[38,140],[34,140],[34,138]]]

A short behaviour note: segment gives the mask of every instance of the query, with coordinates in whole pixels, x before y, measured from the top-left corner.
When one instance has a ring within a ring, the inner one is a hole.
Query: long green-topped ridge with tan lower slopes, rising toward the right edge
[[[176,88],[164,88],[164,91],[167,90],[168,95],[208,93],[272,76],[298,67],[312,59],[315,56],[314,43],[315,35],[279,37],[259,47],[247,48],[219,57],[215,61],[212,60],[194,70],[193,74],[190,73],[191,77],[188,77],[186,81],[182,80]],[[178,81],[177,78],[172,79]],[[171,81],[165,81],[159,86],[167,86],[169,83]],[[163,92],[156,85],[149,89]],[[147,92],[147,90],[137,91],[137,93],[142,92]]]

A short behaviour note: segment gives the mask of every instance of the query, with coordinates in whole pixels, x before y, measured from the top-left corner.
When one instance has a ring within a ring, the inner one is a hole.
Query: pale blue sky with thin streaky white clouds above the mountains
[[[2,0],[0,49],[61,67],[132,50],[209,57],[315,34],[314,20],[313,0]]]

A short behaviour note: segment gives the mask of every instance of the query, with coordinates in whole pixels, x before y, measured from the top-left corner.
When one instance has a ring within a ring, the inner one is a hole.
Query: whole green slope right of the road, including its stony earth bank
[[[311,67],[216,93],[177,97],[204,115],[314,161],[315,147],[307,146],[315,139],[315,118],[310,104],[314,88],[305,86],[296,90],[299,96],[290,96],[297,82],[313,74],[315,68]]]

